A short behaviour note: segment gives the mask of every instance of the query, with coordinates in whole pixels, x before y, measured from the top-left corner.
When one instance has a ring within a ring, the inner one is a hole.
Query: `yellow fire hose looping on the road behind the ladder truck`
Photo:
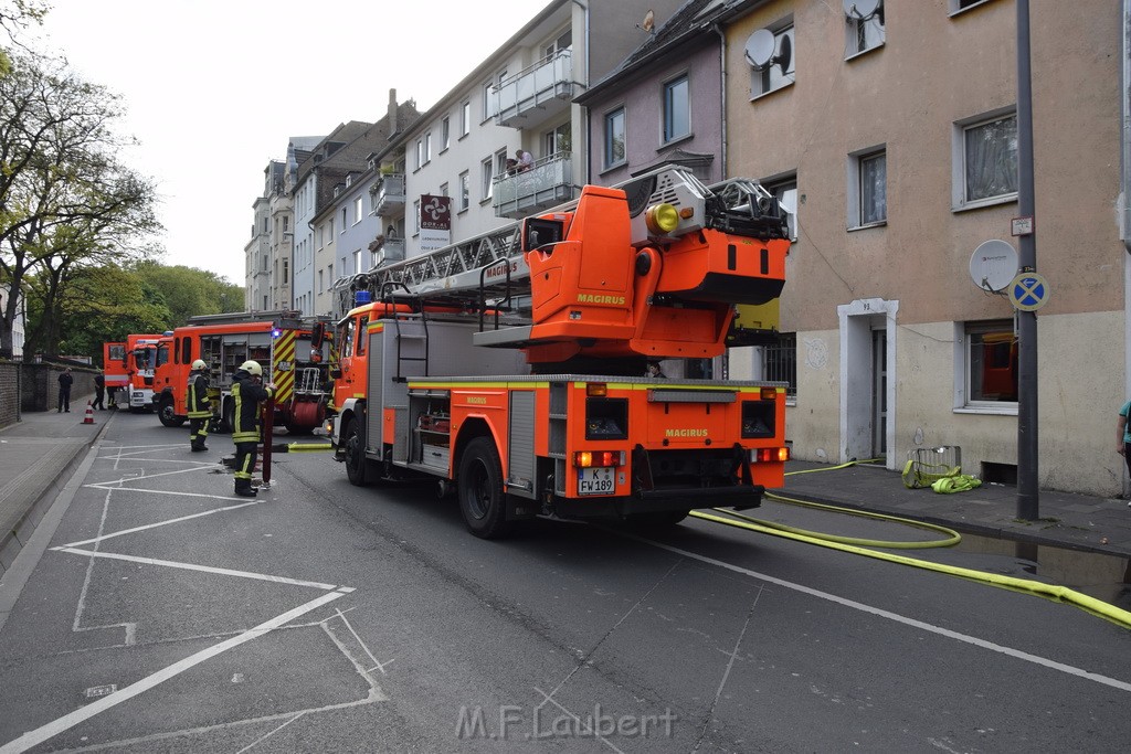
[[[791,474],[806,474],[810,471],[832,471],[836,469],[843,469],[847,466],[853,466],[857,462],[861,461],[851,461],[848,463],[841,463],[840,466],[834,466],[827,469],[806,469],[805,471],[792,471]],[[1048,599],[1054,603],[1064,603],[1065,605],[1072,605],[1073,607],[1078,607],[1087,613],[1090,613],[1091,615],[1102,617],[1105,621],[1110,621],[1117,626],[1122,626],[1124,629],[1131,629],[1131,613],[1129,613],[1128,610],[1115,607],[1114,605],[1110,605],[1108,603],[1105,603],[1100,599],[1096,599],[1095,597],[1089,597],[1088,595],[1076,591],[1074,589],[1069,589],[1068,587],[1042,583],[1039,581],[1033,581],[1030,579],[1018,579],[1016,577],[1008,577],[999,573],[987,573],[985,571],[976,571],[974,569],[964,569],[957,565],[944,565],[941,563],[932,563],[930,561],[921,561],[914,557],[906,557],[904,555],[897,555],[893,553],[881,553],[874,549],[867,549],[867,547],[883,547],[887,549],[893,549],[893,548],[907,549],[907,548],[924,548],[924,547],[949,547],[952,545],[957,545],[958,541],[961,539],[961,537],[958,535],[957,531],[953,531],[946,527],[926,523],[924,521],[913,521],[909,519],[903,519],[895,515],[883,515],[881,513],[872,513],[870,511],[857,511],[846,508],[839,508],[836,505],[824,505],[822,503],[813,503],[810,501],[800,501],[791,497],[782,497],[779,495],[772,495],[769,493],[767,494],[774,500],[778,500],[785,503],[801,504],[810,508],[821,508],[821,509],[832,510],[836,512],[848,513],[852,515],[863,515],[866,518],[897,521],[921,529],[942,531],[951,535],[951,537],[948,539],[932,540],[932,541],[884,543],[882,540],[855,539],[852,537],[826,535],[817,531],[805,531],[804,529],[795,529],[793,527],[775,523],[772,521],[762,521],[759,519],[750,518],[748,515],[742,515],[741,513],[735,513],[734,511],[727,511],[718,508],[714,510],[718,513],[726,514],[725,518],[723,515],[715,515],[701,511],[691,511],[691,515],[699,519],[703,519],[705,521],[713,521],[715,523],[723,523],[726,526],[737,527],[741,529],[749,529],[751,531],[759,531],[761,534],[768,534],[775,537],[783,537],[785,539],[793,539],[795,541],[817,545],[819,547],[839,549],[841,552],[852,553],[855,555],[863,555],[865,557],[872,557],[880,561],[888,561],[889,563],[898,563],[900,565],[909,565],[912,567],[923,569],[925,571],[934,571],[936,573],[944,573],[947,575],[959,577],[961,579],[967,579],[969,581],[986,583],[992,587],[999,587],[1001,589],[1009,589],[1010,591],[1019,591],[1028,595],[1034,595],[1036,597],[1042,597],[1044,599]]]

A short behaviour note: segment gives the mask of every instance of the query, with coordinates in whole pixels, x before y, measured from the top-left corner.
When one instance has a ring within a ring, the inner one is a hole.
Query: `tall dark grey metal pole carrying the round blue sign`
[[[1029,68],[1029,0],[1017,0],[1017,203],[1021,217],[1034,217],[1033,83]],[[1036,222],[1018,236],[1021,271],[1037,271]],[[1017,518],[1039,518],[1037,469],[1037,315],[1018,312],[1017,364]]]

